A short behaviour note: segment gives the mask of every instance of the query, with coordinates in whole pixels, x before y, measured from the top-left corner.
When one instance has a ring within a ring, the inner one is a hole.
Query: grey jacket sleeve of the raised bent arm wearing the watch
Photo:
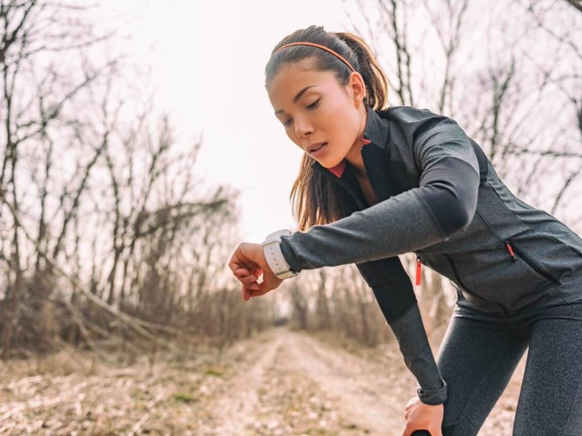
[[[281,237],[281,251],[296,272],[391,258],[448,240],[473,220],[479,166],[457,123],[428,109],[394,108],[421,171],[419,186],[330,224]]]

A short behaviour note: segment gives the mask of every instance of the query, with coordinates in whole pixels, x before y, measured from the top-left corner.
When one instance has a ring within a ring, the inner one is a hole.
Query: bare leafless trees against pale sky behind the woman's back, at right
[[[567,0],[359,1],[346,9],[388,74],[393,104],[459,121],[512,191],[574,227],[582,219],[568,207],[582,171],[582,19],[571,6],[580,9]],[[413,259],[402,257],[413,276]],[[429,333],[443,326],[456,295],[441,278],[423,269],[416,289]]]

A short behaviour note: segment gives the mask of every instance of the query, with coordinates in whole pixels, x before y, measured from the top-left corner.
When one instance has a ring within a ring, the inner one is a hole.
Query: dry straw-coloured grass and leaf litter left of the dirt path
[[[217,352],[107,364],[68,349],[0,363],[0,435],[190,434],[191,408],[225,377]]]

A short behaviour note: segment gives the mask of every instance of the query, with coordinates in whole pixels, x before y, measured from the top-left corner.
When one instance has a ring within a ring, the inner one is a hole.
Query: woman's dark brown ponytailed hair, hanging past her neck
[[[286,64],[310,59],[315,71],[330,71],[338,83],[347,85],[352,70],[337,56],[324,49],[310,45],[294,45],[275,53],[279,47],[289,42],[315,42],[331,48],[351,63],[364,78],[366,96],[364,103],[372,110],[388,106],[388,79],[378,65],[374,53],[362,38],[349,32],[328,32],[322,26],[309,26],[299,29],[283,38],[271,52],[271,58],[265,67],[265,87]],[[349,215],[346,201],[342,201],[345,192],[314,170],[315,161],[308,153],[301,159],[299,175],[289,194],[298,228],[305,231],[314,224],[328,224]]]

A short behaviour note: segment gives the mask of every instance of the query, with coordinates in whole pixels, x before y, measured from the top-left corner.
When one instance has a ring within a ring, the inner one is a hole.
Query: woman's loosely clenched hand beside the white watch
[[[242,283],[241,294],[244,301],[251,296],[265,295],[281,285],[283,279],[275,276],[269,267],[261,244],[241,242],[228,263],[230,270]],[[262,274],[262,282],[258,277]]]

